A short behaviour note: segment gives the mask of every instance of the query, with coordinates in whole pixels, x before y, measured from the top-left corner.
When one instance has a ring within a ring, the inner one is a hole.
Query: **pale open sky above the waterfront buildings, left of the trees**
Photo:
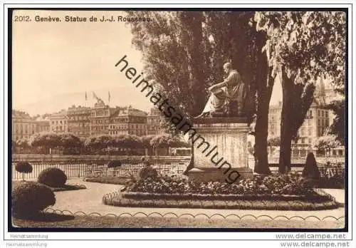
[[[124,22],[66,22],[65,16],[125,15],[121,11],[16,11],[30,22],[13,23],[13,108],[30,115],[55,113],[71,105],[93,106],[93,92],[110,106],[132,105],[150,110],[152,103],[115,68],[127,55],[129,66],[142,71],[142,54],[131,45]],[[61,22],[38,22],[35,16],[59,17]],[[144,74],[145,75],[145,74]],[[85,100],[85,92],[88,100]],[[276,82],[271,103],[281,100]]]

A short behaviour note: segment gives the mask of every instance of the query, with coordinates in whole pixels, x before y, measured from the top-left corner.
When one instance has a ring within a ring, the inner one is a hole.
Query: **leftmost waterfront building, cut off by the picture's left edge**
[[[31,135],[36,133],[37,123],[34,118],[19,110],[12,110],[12,127],[11,139],[16,141],[22,138],[30,138]]]

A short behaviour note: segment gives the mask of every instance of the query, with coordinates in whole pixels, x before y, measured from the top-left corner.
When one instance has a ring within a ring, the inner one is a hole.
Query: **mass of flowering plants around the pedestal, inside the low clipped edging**
[[[155,194],[206,195],[313,195],[313,187],[298,173],[288,175],[256,176],[234,184],[227,182],[196,182],[184,177],[158,177],[138,180],[127,187],[127,192]]]

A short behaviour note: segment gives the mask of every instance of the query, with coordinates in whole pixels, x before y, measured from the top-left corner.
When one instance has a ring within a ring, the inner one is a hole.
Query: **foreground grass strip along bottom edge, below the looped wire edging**
[[[81,228],[158,228],[158,227],[195,227],[195,228],[311,228],[336,229],[343,228],[343,220],[339,221],[300,221],[281,219],[202,219],[192,217],[93,217],[71,216],[46,213],[37,219],[16,219],[14,227],[81,227]]]

